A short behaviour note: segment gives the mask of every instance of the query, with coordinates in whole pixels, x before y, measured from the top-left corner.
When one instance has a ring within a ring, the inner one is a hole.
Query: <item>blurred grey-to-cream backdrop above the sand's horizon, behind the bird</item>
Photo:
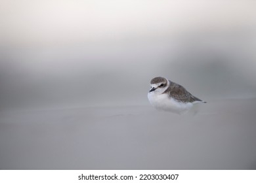
[[[0,2],[2,109],[148,105],[154,76],[256,97],[255,1]]]

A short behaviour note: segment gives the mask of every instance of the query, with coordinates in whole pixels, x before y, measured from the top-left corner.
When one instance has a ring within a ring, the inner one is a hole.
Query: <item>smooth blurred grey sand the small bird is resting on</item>
[[[256,99],[196,116],[150,105],[9,110],[0,169],[256,169]]]

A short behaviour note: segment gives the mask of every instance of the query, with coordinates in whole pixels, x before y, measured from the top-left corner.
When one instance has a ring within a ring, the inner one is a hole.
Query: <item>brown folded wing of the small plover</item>
[[[192,103],[194,101],[202,101],[189,93],[183,86],[170,81],[170,86],[165,90],[164,93],[169,93],[171,97],[177,101],[182,101],[183,103]]]

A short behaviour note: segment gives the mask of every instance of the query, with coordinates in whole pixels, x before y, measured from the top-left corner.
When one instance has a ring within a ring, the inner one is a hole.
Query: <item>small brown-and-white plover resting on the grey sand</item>
[[[189,93],[183,86],[163,77],[150,82],[148,100],[159,110],[184,114],[198,103],[206,103]]]

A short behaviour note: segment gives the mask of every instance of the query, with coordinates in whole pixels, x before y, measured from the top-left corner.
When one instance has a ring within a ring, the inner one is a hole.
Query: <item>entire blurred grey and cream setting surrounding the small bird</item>
[[[0,0],[0,169],[256,169],[255,7]],[[207,103],[155,110],[155,76]]]

